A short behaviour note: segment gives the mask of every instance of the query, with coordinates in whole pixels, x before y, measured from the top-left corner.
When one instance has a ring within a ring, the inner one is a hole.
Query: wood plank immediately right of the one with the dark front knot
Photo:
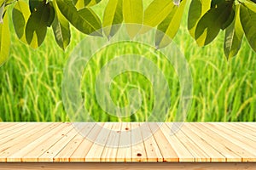
[[[143,142],[147,154],[148,161],[164,161],[163,156],[161,155],[160,149],[154,139],[153,133],[148,126],[148,122],[140,123],[141,132],[143,135]]]

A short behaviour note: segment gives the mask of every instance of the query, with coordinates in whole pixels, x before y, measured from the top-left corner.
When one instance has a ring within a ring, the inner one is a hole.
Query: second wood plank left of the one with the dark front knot
[[[112,131],[109,134],[107,144],[102,152],[101,161],[116,161],[121,128],[122,123],[113,122],[113,127],[111,129]]]

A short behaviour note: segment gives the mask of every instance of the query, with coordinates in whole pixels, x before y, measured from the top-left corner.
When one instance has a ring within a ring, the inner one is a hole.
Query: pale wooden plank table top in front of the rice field
[[[256,162],[256,122],[185,122],[171,134],[175,126],[83,122],[83,136],[70,122],[1,122],[0,162]]]

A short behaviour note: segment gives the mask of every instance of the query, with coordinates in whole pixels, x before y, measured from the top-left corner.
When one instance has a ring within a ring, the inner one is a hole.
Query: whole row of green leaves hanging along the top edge
[[[8,10],[12,10],[15,32],[20,41],[32,48],[44,42],[48,27],[51,27],[57,44],[65,50],[70,43],[70,25],[84,34],[113,37],[118,29],[101,31],[102,26],[125,23],[157,26],[167,36],[175,37],[187,0],[153,0],[145,10],[143,0],[109,0],[103,20],[91,9],[101,0],[0,0],[0,65],[9,56]],[[10,4],[15,3],[15,6]],[[11,7],[10,7],[11,6]],[[148,31],[132,27],[130,37]],[[243,37],[256,51],[256,3],[254,0],[192,0],[189,6],[188,29],[199,46],[212,42],[219,31],[225,31],[224,54],[228,59],[235,56]],[[156,35],[157,48],[164,48],[170,41]]]

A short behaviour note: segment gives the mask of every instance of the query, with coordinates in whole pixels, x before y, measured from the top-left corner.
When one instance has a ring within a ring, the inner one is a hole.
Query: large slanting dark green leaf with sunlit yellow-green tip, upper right
[[[221,3],[201,17],[195,29],[195,40],[199,46],[209,44],[218,36],[221,27],[230,17],[232,5],[233,2]]]

